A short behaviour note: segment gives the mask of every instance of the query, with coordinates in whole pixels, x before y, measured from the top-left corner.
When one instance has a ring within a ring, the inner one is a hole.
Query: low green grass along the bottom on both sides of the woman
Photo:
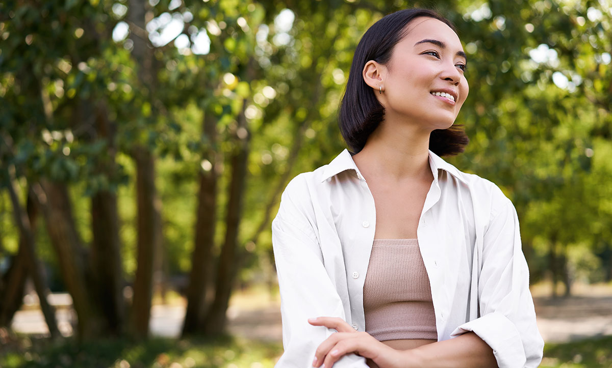
[[[233,337],[142,343],[101,339],[81,345],[70,339],[53,343],[18,337],[0,351],[3,368],[268,368],[282,353],[282,345]],[[540,367],[612,367],[612,336],[547,344]]]

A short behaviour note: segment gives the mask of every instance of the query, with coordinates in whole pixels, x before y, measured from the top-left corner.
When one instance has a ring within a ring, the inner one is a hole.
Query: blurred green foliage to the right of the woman
[[[528,256],[532,246],[535,255],[552,253],[530,259],[541,265],[531,267],[537,280],[561,271],[568,247],[610,248],[608,189],[600,183],[610,175],[602,160],[612,122],[612,18],[606,1],[518,4],[518,12],[514,2],[465,8],[460,35],[476,59],[468,76],[476,89],[460,118],[472,142],[455,162],[510,196]],[[566,270],[580,267],[570,261]]]

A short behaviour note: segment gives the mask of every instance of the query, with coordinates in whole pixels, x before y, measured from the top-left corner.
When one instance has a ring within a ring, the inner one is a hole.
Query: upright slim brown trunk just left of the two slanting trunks
[[[136,201],[137,201],[137,268],[134,279],[134,296],[132,303],[132,333],[137,338],[149,334],[149,317],[151,315],[151,298],[153,290],[153,268],[155,249],[161,239],[159,199],[155,192],[154,158],[149,150],[143,147],[134,149],[136,161]]]

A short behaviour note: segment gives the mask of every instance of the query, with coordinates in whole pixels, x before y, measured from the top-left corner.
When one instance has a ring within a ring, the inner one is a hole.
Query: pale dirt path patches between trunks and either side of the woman
[[[536,297],[537,323],[546,342],[568,342],[593,336],[612,335],[612,296],[572,296],[570,298]],[[181,332],[185,307],[182,305],[153,306],[151,333],[177,337]],[[58,323],[63,334],[72,333],[73,313],[58,311]],[[239,303],[228,309],[228,330],[236,336],[267,341],[282,341],[280,304]],[[21,333],[45,334],[47,325],[39,309],[18,311],[13,329]]]

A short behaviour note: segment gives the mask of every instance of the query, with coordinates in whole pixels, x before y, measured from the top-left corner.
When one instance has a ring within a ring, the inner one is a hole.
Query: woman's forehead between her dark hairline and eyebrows
[[[406,28],[406,35],[401,42],[419,42],[434,39],[446,43],[452,49],[463,50],[459,36],[448,24],[429,17],[419,17],[411,21]]]

